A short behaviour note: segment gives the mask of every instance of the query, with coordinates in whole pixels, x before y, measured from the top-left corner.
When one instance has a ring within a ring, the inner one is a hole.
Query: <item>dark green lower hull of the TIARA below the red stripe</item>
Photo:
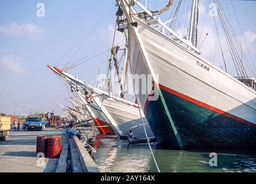
[[[148,101],[144,113],[159,144],[175,148],[256,148],[255,124],[217,113],[161,87],[163,98]],[[238,107],[239,108],[239,107]]]

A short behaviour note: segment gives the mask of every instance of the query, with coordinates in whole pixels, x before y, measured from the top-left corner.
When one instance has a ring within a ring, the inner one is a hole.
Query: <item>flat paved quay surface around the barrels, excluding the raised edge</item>
[[[36,137],[61,133],[56,129],[10,131],[10,137],[0,141],[0,173],[54,173],[59,159],[39,160],[36,157]]]

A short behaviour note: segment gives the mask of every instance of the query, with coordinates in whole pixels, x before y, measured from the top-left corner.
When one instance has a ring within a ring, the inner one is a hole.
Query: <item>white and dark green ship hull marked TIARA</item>
[[[134,21],[137,27],[128,26],[132,72],[158,75],[157,100],[150,100],[149,93],[137,95],[158,143],[256,148],[255,91],[138,18]]]

